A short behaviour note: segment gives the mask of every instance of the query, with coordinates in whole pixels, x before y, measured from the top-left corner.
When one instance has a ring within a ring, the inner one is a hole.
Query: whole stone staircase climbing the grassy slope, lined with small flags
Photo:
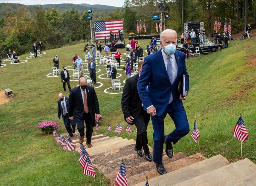
[[[64,138],[68,134],[62,135]],[[79,152],[79,133],[72,137]],[[92,157],[93,166],[108,178],[110,185],[115,185],[115,179],[121,161],[123,160],[127,170],[128,185],[145,186],[146,175],[150,186],[255,186],[256,164],[249,159],[229,163],[221,155],[207,159],[202,154],[186,156],[179,152],[172,158],[167,157],[163,151],[163,164],[167,174],[160,175],[153,162],[148,162],[144,157],[139,157],[134,150],[134,139],[122,137],[107,137],[93,133],[93,147],[87,148]],[[84,146],[86,139],[84,138]],[[153,149],[149,147],[153,155]]]

